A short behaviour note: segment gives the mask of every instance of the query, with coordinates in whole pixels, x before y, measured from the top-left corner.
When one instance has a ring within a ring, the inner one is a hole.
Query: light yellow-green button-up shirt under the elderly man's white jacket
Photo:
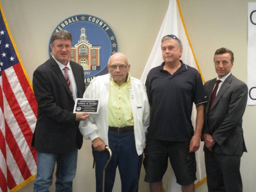
[[[134,125],[130,104],[130,77],[120,87],[111,77],[108,100],[108,126],[124,127]]]

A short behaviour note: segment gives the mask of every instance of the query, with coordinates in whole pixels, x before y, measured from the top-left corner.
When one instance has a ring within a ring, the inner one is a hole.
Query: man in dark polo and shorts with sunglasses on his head
[[[169,157],[182,192],[195,191],[195,151],[200,146],[207,102],[204,86],[199,72],[180,60],[180,39],[164,36],[161,49],[164,62],[152,68],[146,80],[152,113],[146,136],[145,181],[151,192],[161,192]],[[191,122],[193,102],[197,112],[195,132]]]

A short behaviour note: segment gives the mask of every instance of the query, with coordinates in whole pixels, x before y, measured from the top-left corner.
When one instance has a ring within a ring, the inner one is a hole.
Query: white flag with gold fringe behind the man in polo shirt
[[[181,56],[181,60],[185,64],[196,68],[199,71],[199,73],[201,74],[202,80],[204,82],[204,78],[203,78],[200,68],[198,66],[196,56],[194,54],[192,45],[191,45],[189,37],[188,37],[187,29],[185,26],[185,22],[183,20],[183,16],[182,16],[181,9],[180,9],[180,4],[179,4],[178,0],[177,1],[176,0],[169,1],[169,6],[168,6],[168,10],[165,14],[164,21],[161,25],[159,32],[158,32],[158,35],[156,37],[156,42],[155,42],[153,49],[149,55],[148,62],[144,68],[144,71],[142,73],[140,80],[145,83],[149,70],[151,68],[161,65],[161,63],[164,61],[162,58],[162,51],[161,51],[161,39],[163,36],[170,35],[170,34],[177,36],[182,42],[183,53]],[[192,119],[193,126],[195,127],[195,122],[196,122],[196,107],[195,107],[195,105],[193,106],[191,119]],[[197,187],[206,181],[203,143],[201,143],[199,150],[196,152],[196,164],[197,164],[196,165],[197,180],[195,182],[195,186]],[[181,191],[180,185],[178,185],[176,183],[176,178],[173,173],[172,167],[170,166],[170,162],[168,163],[168,169],[163,178],[163,187],[166,192]]]

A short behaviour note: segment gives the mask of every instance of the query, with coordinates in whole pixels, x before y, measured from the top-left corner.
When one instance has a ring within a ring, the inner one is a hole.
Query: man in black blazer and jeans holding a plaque
[[[78,125],[89,114],[73,113],[74,100],[83,97],[85,86],[83,68],[69,61],[71,41],[72,35],[68,31],[55,32],[51,39],[52,57],[33,74],[38,103],[32,140],[32,146],[37,150],[34,191],[48,191],[55,162],[56,191],[72,191],[77,150],[83,143]]]

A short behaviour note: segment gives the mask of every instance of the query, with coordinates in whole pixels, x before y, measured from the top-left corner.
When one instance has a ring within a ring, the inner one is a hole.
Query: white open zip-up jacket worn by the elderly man
[[[130,76],[130,75],[129,75]],[[150,108],[145,85],[136,78],[130,76],[131,87],[130,104],[134,121],[134,137],[137,154],[143,153],[145,134],[149,126]],[[85,139],[94,140],[100,137],[108,145],[108,99],[110,86],[110,74],[97,76],[84,92],[84,98],[100,99],[99,114],[91,114],[79,125],[80,132]]]

